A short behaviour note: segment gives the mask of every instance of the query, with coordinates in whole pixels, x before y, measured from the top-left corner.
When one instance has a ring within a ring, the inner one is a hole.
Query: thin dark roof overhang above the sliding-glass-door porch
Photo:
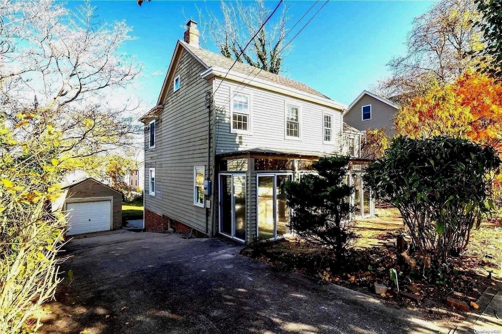
[[[283,157],[283,158],[319,158],[321,156],[334,156],[326,152],[304,151],[297,149],[271,149],[271,148],[247,148],[237,151],[216,153],[217,157]]]

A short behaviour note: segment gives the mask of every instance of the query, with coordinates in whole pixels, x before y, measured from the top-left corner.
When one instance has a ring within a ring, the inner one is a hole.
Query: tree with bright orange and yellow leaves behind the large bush
[[[502,85],[473,72],[451,84],[434,83],[398,111],[395,125],[412,138],[464,137],[502,153]]]

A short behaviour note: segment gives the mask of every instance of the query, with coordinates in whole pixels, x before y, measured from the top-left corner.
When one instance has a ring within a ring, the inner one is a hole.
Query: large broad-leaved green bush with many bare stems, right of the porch
[[[376,199],[399,209],[413,249],[444,263],[493,209],[490,177],[499,165],[492,147],[469,140],[398,137],[368,166],[364,183]]]

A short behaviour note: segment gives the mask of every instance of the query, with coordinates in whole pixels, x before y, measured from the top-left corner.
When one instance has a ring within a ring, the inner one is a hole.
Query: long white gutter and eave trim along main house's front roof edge
[[[227,70],[225,70],[225,69],[218,68],[218,67],[211,67],[211,68],[203,71],[200,74],[200,76],[204,79],[209,79],[213,76],[224,78],[226,75],[226,79],[231,80],[231,81],[236,81],[236,82],[240,83],[242,86],[246,85],[246,86],[263,88],[268,91],[273,91],[273,92],[281,93],[284,95],[293,96],[293,97],[296,97],[296,98],[299,98],[299,99],[302,99],[305,101],[309,101],[309,102],[317,103],[317,104],[320,104],[320,105],[323,105],[326,107],[337,109],[340,112],[342,112],[344,109],[347,108],[346,105],[339,103],[339,102],[336,102],[336,101],[333,101],[333,100],[330,100],[330,99],[327,99],[327,98],[322,98],[320,96],[306,93],[306,92],[303,92],[301,90],[294,89],[291,87],[286,87],[286,86],[283,86],[283,85],[280,85],[280,84],[277,84],[274,82],[266,81],[266,80],[259,79],[259,78],[254,78],[254,76],[258,73],[258,71],[260,71],[260,70],[257,69],[256,73],[251,72],[248,75],[246,75],[246,74],[238,73],[235,71],[229,71],[227,73]]]

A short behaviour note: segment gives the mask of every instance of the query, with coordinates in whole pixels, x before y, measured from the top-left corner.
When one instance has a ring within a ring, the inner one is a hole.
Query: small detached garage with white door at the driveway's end
[[[56,205],[68,214],[66,235],[110,231],[122,227],[122,193],[92,178],[63,188],[64,202]]]

